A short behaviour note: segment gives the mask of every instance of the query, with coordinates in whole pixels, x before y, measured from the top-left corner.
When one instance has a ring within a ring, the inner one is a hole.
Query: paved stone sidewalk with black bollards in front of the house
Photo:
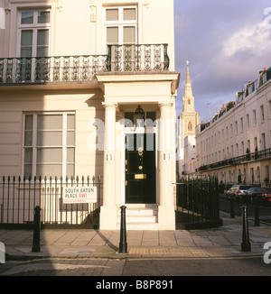
[[[35,258],[210,258],[264,255],[264,244],[271,242],[271,226],[248,219],[251,250],[241,251],[242,218],[220,213],[219,228],[177,231],[127,231],[127,252],[119,253],[120,231],[89,229],[44,229],[41,251],[32,252],[33,231],[0,229],[5,259]]]

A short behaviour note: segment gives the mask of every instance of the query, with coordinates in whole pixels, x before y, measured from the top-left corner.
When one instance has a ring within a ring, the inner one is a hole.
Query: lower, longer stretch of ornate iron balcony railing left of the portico
[[[106,60],[102,55],[0,59],[0,85],[89,81],[107,70]]]

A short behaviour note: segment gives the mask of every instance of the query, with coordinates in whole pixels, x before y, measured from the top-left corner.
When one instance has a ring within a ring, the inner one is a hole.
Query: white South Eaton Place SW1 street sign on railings
[[[63,204],[97,203],[97,187],[71,187],[63,189]]]

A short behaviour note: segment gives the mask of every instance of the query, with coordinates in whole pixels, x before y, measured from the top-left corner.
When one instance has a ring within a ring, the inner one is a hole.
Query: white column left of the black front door
[[[116,108],[115,104],[105,104],[105,141],[103,206],[100,207],[100,229],[116,230]]]

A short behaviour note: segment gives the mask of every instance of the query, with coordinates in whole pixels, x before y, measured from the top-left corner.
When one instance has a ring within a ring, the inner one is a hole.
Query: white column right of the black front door
[[[175,229],[175,212],[173,198],[173,164],[174,162],[174,119],[173,104],[160,104],[160,122],[159,122],[159,145],[158,145],[158,170],[159,170],[159,194],[160,206],[158,223],[160,230]]]

